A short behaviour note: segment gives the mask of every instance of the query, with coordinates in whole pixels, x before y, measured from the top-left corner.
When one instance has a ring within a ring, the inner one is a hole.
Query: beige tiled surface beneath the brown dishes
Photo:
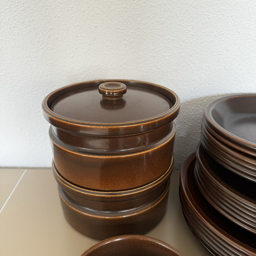
[[[145,235],[165,241],[185,256],[210,256],[187,227],[178,183],[179,171],[174,171],[167,213]],[[64,219],[52,170],[0,169],[0,256],[80,256],[98,242]]]

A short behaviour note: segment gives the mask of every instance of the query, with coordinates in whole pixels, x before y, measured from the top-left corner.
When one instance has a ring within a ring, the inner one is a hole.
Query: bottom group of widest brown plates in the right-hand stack
[[[193,234],[215,256],[256,256],[256,235],[225,218],[199,191],[195,163],[194,153],[184,162],[180,176],[181,206]]]

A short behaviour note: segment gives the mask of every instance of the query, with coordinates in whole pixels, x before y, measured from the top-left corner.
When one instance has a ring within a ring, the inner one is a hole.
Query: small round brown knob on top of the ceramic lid
[[[119,82],[106,82],[99,86],[99,92],[105,100],[122,99],[126,93],[126,85]]]

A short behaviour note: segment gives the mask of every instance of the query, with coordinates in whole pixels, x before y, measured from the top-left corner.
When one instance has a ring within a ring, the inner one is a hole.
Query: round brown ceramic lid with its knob
[[[99,80],[53,91],[44,116],[58,128],[96,135],[142,133],[170,123],[180,100],[171,90],[132,80]]]

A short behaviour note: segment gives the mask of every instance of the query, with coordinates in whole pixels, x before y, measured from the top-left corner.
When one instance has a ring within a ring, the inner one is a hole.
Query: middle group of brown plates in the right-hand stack
[[[226,218],[256,234],[255,186],[225,170],[204,151],[197,149],[197,187],[208,202]]]

